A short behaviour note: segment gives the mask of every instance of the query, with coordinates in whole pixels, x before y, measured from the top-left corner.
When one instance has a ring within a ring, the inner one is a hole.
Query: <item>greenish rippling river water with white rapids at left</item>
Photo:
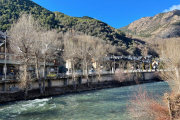
[[[131,120],[127,104],[139,87],[151,95],[170,91],[166,82],[0,104],[0,120]]]

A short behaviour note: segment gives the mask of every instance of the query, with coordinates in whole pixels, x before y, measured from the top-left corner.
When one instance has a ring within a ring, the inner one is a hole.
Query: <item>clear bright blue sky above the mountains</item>
[[[180,9],[179,0],[32,0],[50,11],[69,16],[89,16],[114,28],[142,17]]]

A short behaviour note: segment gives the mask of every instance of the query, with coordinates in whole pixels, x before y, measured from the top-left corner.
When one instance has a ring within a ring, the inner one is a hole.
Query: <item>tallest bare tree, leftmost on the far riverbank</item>
[[[25,95],[28,95],[28,86],[30,78],[28,76],[28,66],[31,62],[32,46],[34,44],[35,35],[38,29],[38,22],[35,21],[32,15],[23,14],[21,18],[11,26],[8,34],[9,43],[14,54],[19,56],[23,64],[23,77],[21,76],[21,85],[25,90]]]

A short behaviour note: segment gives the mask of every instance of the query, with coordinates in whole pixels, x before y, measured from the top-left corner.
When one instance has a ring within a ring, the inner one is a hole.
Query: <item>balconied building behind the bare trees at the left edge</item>
[[[8,38],[7,38],[8,41]],[[5,49],[6,49],[6,62],[5,62]],[[9,43],[6,42],[6,48],[5,48],[5,34],[0,31],[0,79],[2,78],[2,76],[4,75],[4,71],[5,70],[5,63],[7,66],[7,72],[6,74],[16,74],[16,72],[18,70],[20,70],[21,67],[21,57],[17,56],[15,54],[13,54],[13,51],[11,50]],[[43,60],[40,59],[40,63],[41,66],[43,66]],[[59,66],[64,65],[62,58],[58,58],[58,59],[48,59],[46,66],[47,66],[47,73],[53,68],[54,71],[59,72]],[[41,69],[42,67],[40,67]],[[29,70],[34,71],[35,72],[35,66],[32,65]],[[40,70],[41,72],[42,70]]]

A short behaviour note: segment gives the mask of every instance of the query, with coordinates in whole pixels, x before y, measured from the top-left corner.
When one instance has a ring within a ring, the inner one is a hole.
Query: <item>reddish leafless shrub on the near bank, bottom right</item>
[[[169,111],[166,103],[159,103],[147,91],[139,88],[128,105],[129,114],[137,120],[169,120]]]

